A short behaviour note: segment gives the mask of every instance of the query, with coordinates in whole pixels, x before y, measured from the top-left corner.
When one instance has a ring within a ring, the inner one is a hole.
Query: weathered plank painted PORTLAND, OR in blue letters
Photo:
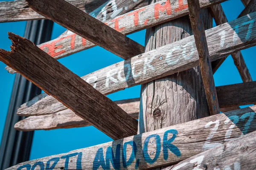
[[[7,170],[24,170],[25,167],[134,170],[173,164],[256,130],[255,112],[256,106],[251,106],[221,113],[69,153],[23,162]]]

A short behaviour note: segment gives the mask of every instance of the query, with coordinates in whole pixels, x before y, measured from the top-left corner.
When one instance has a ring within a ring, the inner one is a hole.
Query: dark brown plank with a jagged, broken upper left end
[[[12,33],[9,38],[12,52],[0,49],[0,61],[111,138],[137,133],[137,120],[106,96],[29,40]]]

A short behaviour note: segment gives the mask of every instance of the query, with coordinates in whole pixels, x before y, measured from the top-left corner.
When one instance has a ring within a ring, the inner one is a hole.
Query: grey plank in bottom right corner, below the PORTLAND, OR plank
[[[255,170],[255,142],[252,132],[163,170]]]

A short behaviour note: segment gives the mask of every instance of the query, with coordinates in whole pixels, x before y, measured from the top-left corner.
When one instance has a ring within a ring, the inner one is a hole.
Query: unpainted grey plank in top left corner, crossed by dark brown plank
[[[107,0],[67,0],[67,2],[86,13],[90,13]],[[0,2],[0,23],[41,19],[45,19],[45,17],[29,8],[25,0]]]

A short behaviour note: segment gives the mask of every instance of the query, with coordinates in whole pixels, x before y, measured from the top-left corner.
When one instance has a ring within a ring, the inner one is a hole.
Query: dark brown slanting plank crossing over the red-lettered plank
[[[26,0],[39,14],[87,38],[123,59],[143,53],[144,47],[64,0]],[[59,10],[61,9],[61,10]],[[114,37],[114,38],[113,38]]]

